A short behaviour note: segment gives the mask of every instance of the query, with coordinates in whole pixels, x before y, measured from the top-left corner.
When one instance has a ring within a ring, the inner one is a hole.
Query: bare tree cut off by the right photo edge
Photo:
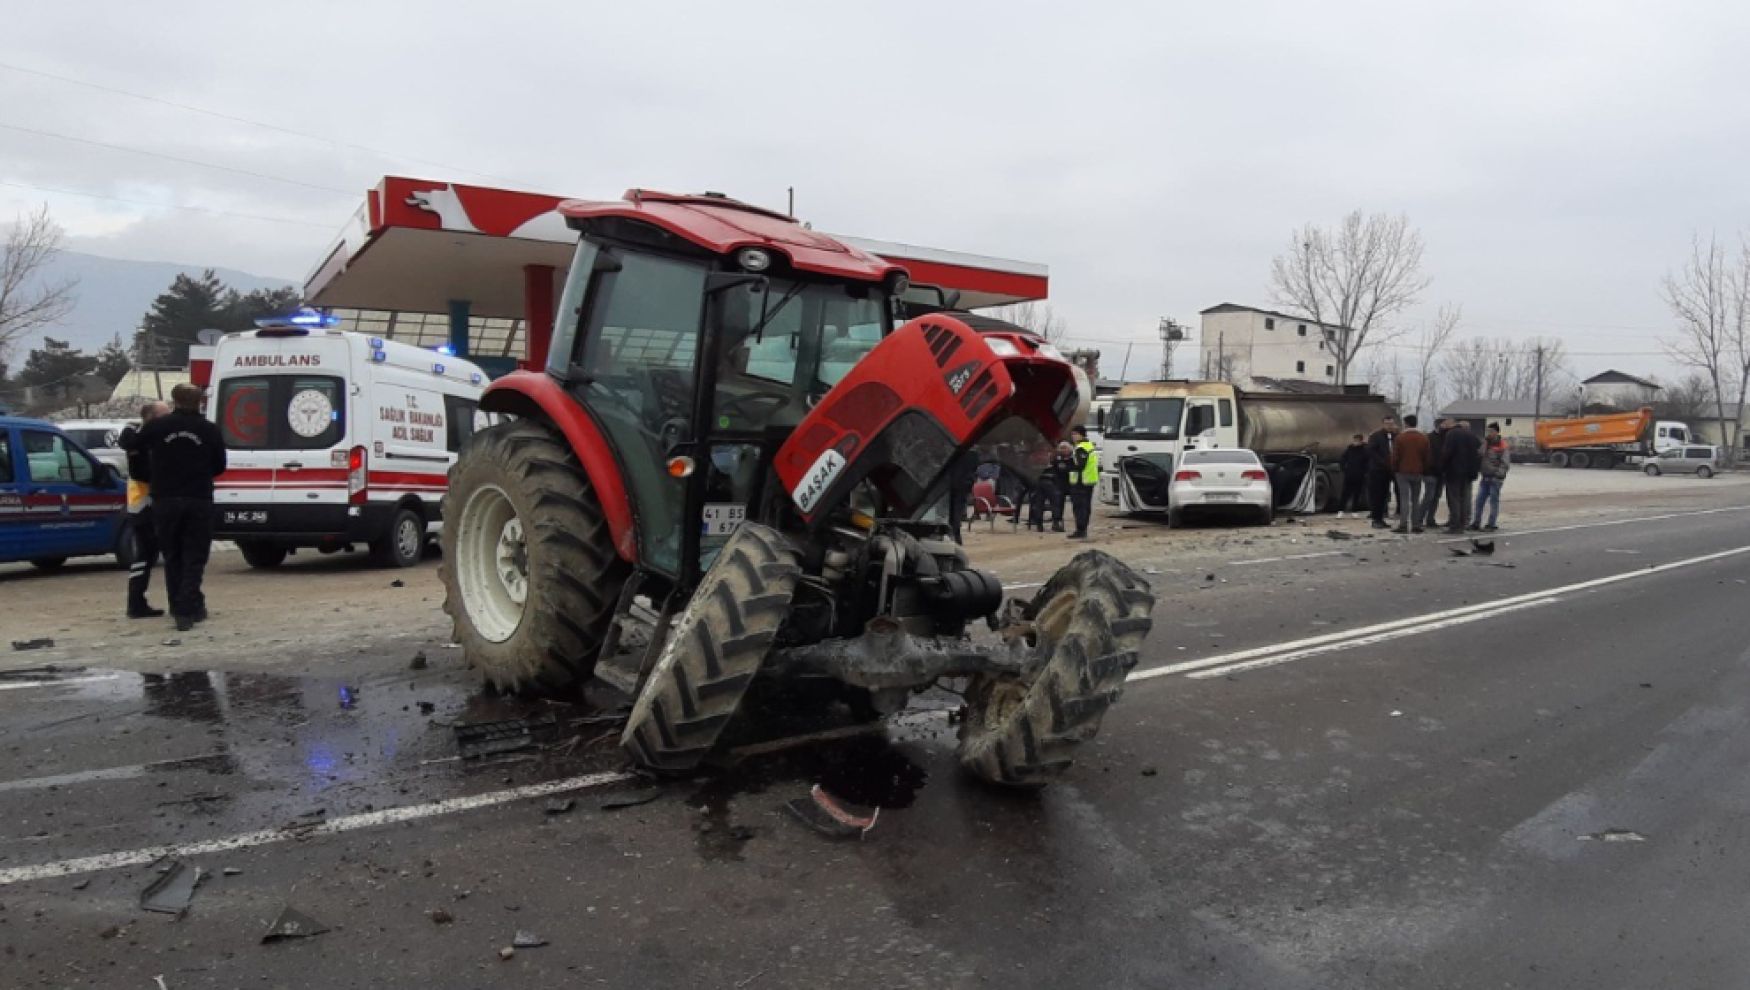
[[[1727,369],[1736,371],[1729,364],[1734,360],[1732,343],[1745,332],[1743,264],[1740,259],[1729,266],[1726,250],[1713,234],[1708,234],[1706,243],[1701,234],[1694,234],[1684,268],[1664,276],[1664,303],[1676,317],[1675,336],[1662,341],[1664,350],[1704,374],[1713,387],[1713,411],[1718,415],[1722,441],[1734,436],[1727,427],[1722,385]]]

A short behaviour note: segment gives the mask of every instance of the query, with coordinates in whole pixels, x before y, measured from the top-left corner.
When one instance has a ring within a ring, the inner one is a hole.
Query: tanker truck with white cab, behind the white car
[[[1337,507],[1337,465],[1349,437],[1379,429],[1395,409],[1382,395],[1246,392],[1228,381],[1139,381],[1111,401],[1101,441],[1099,497],[1120,512],[1167,512],[1167,486],[1185,450],[1246,448],[1270,474],[1276,507],[1295,507],[1307,472],[1311,500]]]

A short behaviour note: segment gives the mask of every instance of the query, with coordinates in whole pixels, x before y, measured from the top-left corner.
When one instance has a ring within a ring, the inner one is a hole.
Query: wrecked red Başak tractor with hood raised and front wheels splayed
[[[1083,551],[1004,605],[945,514],[973,444],[1026,451],[1082,415],[1062,355],[970,313],[894,327],[905,269],[723,196],[560,212],[579,243],[546,369],[486,390],[509,416],[450,472],[444,609],[469,663],[562,689],[642,626],[621,742],[660,771],[710,754],[749,689],[873,715],[940,682],[964,696],[968,770],[1068,768],[1150,588]],[[1001,635],[970,635],[980,619]]]

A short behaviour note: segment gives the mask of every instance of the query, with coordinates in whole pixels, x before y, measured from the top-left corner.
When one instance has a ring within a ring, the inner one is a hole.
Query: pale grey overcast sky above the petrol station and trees
[[[1419,7],[12,0],[0,217],[301,282],[385,173],[794,185],[821,229],[1048,264],[1116,371],[1158,317],[1269,304],[1293,227],[1402,212],[1433,278],[1409,322],[1461,303],[1582,374],[1670,376],[1659,278],[1750,196],[1750,7]]]

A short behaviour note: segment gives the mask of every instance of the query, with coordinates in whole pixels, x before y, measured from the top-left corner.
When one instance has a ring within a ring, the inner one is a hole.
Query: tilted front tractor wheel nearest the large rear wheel
[[[735,530],[639,686],[620,736],[632,759],[688,771],[710,754],[789,617],[800,577],[802,560],[777,530]]]

